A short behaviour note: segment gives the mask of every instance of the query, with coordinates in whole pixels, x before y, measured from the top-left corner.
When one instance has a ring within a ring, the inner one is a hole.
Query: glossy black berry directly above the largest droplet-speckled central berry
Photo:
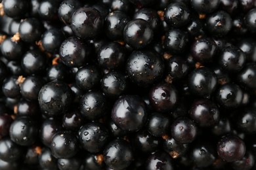
[[[153,37],[152,27],[142,19],[131,20],[123,29],[123,40],[135,49],[144,48],[150,44]]]

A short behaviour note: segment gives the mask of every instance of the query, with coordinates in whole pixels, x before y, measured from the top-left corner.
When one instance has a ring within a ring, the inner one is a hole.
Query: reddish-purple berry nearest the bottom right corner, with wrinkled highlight
[[[235,135],[225,135],[217,144],[218,155],[227,162],[241,160],[245,150],[244,141]]]

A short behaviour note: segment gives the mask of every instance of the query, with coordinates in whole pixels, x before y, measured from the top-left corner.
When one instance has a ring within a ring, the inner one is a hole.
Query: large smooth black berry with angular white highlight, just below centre
[[[147,116],[146,105],[137,95],[121,95],[111,113],[114,124],[125,131],[138,131],[144,126]]]

